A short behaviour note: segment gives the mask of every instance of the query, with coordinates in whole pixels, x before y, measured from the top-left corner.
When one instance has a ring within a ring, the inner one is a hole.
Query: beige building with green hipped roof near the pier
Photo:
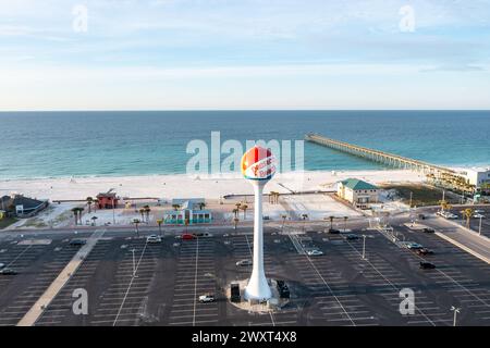
[[[369,204],[377,203],[378,195],[378,187],[357,178],[339,182],[336,187],[336,196],[359,209],[368,209]]]

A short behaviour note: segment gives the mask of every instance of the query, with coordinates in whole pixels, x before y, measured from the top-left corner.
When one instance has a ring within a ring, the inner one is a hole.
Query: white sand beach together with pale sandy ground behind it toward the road
[[[360,216],[362,214],[343,203],[335,201],[331,195],[311,194],[315,191],[332,191],[339,181],[356,177],[372,184],[389,183],[420,183],[424,176],[411,171],[341,171],[341,172],[303,172],[278,174],[266,186],[265,192],[278,191],[287,194],[294,191],[308,195],[286,195],[280,204],[267,200],[264,202],[264,214],[270,220],[280,221],[282,215],[289,219],[299,219],[307,214],[310,220],[322,220],[326,215]],[[97,210],[88,212],[85,206],[87,197],[96,197],[99,192],[113,189],[124,202],[131,199],[140,199],[137,204],[150,204],[151,214],[148,223],[155,225],[162,212],[172,209],[170,202],[173,198],[205,198],[208,209],[212,210],[215,222],[225,223],[233,220],[232,210],[235,203],[244,199],[249,204],[248,214],[240,214],[241,221],[253,220],[253,198],[243,195],[253,195],[252,185],[242,176],[223,175],[217,177],[195,177],[187,175],[151,175],[124,177],[78,177],[78,178],[42,178],[42,179],[14,179],[0,181],[0,195],[22,194],[37,199],[51,201],[65,201],[61,204],[51,204],[40,214],[23,219],[11,225],[15,228],[42,228],[74,226],[74,207],[85,207],[83,224],[88,225],[96,216],[98,225],[131,225],[131,221],[140,217],[137,209],[119,207],[115,211]],[[236,197],[234,197],[236,196]],[[228,199],[222,199],[228,197]],[[132,201],[133,203],[133,201]],[[396,202],[393,209],[400,210]],[[384,208],[389,208],[388,204]],[[402,207],[403,208],[403,207]]]

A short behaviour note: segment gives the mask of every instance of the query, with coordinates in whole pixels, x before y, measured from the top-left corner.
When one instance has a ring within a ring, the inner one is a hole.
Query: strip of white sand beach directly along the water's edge
[[[315,171],[278,174],[266,186],[281,194],[333,189],[336,182],[356,177],[371,184],[418,183],[424,175],[404,170],[387,171]],[[0,181],[0,195],[23,194],[38,199],[81,200],[113,189],[121,197],[172,198],[204,197],[219,199],[226,195],[253,195],[242,176],[196,177],[181,175],[105,176],[77,178],[39,178]]]

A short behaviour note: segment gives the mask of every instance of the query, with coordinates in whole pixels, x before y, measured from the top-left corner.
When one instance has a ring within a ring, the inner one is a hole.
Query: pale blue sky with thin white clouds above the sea
[[[488,0],[0,0],[0,110],[490,109],[489,60]]]

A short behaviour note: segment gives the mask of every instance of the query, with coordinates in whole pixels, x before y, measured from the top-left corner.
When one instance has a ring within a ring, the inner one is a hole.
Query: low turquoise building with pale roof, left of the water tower
[[[205,210],[204,198],[172,199],[173,210],[163,212],[166,224],[206,224],[212,221],[211,211]]]

